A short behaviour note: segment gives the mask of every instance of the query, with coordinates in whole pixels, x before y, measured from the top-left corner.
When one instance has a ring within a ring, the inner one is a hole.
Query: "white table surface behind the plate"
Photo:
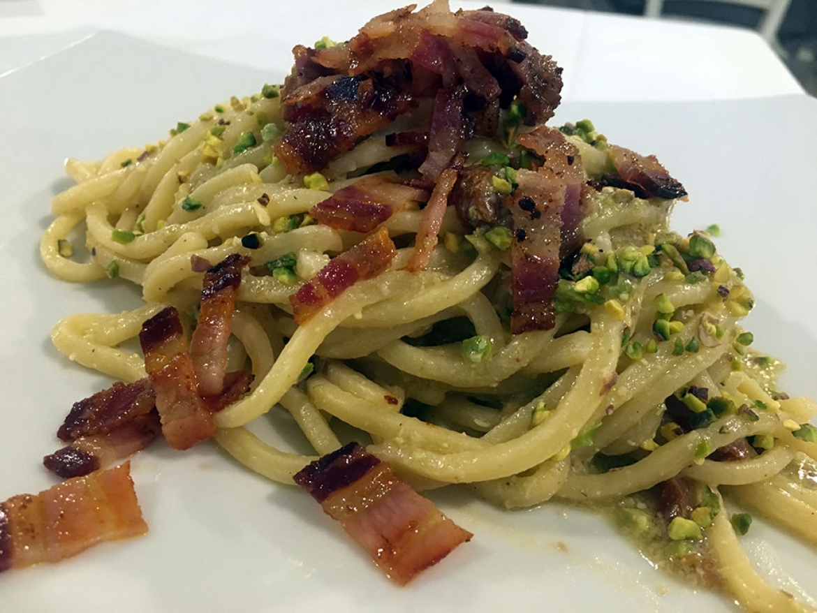
[[[96,32],[256,68],[280,80],[296,43],[345,40],[401,0],[0,0],[0,74]],[[802,94],[755,32],[494,0],[565,69],[566,101],[706,101]],[[452,2],[481,7],[484,2]]]

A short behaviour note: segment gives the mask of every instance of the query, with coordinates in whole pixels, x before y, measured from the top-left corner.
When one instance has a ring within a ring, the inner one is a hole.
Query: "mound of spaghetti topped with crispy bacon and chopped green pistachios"
[[[228,361],[254,382],[215,438],[248,468],[292,485],[352,427],[417,488],[600,503],[744,608],[809,610],[746,570],[721,493],[817,544],[817,405],[780,392],[749,348],[752,294],[711,235],[668,229],[681,184],[586,120],[544,126],[560,70],[523,33],[488,10],[393,11],[350,43],[296,47],[283,90],[69,160],[77,185],[53,201],[42,261],[129,280],[145,306],[69,316],[53,342],[144,378],[128,348],[143,322],[172,306],[189,329],[191,262],[238,254]],[[338,126],[356,132],[333,140]],[[383,270],[332,285],[378,233],[394,248]],[[276,407],[314,455],[248,428]]]

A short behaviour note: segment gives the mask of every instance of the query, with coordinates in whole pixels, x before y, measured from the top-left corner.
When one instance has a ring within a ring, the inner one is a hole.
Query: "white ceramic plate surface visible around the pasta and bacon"
[[[54,483],[40,460],[56,449],[56,428],[75,400],[110,383],[59,356],[51,326],[138,302],[124,282],[68,284],[40,264],[51,197],[69,185],[63,160],[156,141],[287,69],[288,58],[263,73],[100,34],[0,78],[0,500]],[[571,104],[558,119],[583,117],[610,141],[659,154],[685,183],[691,201],[679,204],[676,229],[721,225],[721,252],[757,294],[748,322],[757,346],[788,361],[792,395],[817,396],[817,101]],[[157,443],[133,460],[133,478],[150,534],[0,575],[3,611],[732,610],[660,574],[605,521],[574,508],[502,512],[437,492],[475,538],[396,588],[306,494],[215,447],[180,454]],[[745,542],[761,566],[779,561],[810,583],[810,548],[761,522]]]

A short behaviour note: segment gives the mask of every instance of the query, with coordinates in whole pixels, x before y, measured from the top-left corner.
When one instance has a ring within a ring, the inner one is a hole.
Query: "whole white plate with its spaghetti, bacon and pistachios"
[[[9,610],[815,610],[817,101],[560,104],[525,26],[0,78]],[[44,457],[150,530],[22,568]]]

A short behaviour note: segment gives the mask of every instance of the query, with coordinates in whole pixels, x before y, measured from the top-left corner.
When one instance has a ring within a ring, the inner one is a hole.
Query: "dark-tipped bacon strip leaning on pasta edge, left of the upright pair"
[[[216,425],[199,397],[176,308],[167,307],[145,321],[139,340],[167,444],[185,450],[215,436]]]

